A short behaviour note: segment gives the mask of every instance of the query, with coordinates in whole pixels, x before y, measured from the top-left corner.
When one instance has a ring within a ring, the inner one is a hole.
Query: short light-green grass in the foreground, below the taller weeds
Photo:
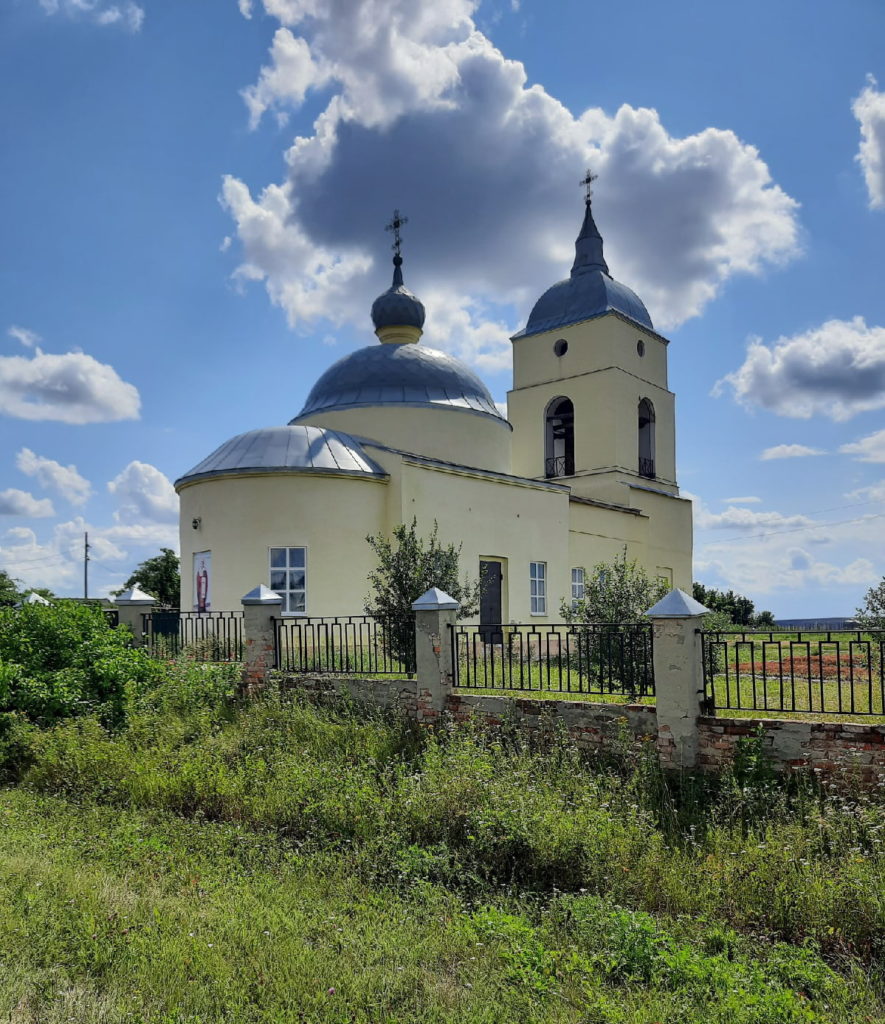
[[[581,893],[477,902],[414,868],[372,884],[273,835],[6,793],[0,1014],[859,1024],[881,1009],[862,972],[813,946]]]

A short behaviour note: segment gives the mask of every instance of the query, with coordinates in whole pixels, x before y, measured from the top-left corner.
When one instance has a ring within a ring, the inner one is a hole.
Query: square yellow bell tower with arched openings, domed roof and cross
[[[636,506],[636,488],[678,495],[667,346],[641,299],[615,281],[587,172],[575,262],[513,336],[513,473],[574,496]]]

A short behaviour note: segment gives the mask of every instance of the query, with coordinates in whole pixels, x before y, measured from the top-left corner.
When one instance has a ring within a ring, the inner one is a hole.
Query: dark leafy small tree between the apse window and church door
[[[369,573],[371,593],[366,598],[366,613],[381,624],[388,653],[407,670],[415,668],[415,612],[412,603],[431,587],[438,587],[461,603],[459,618],[475,614],[479,606],[479,583],[459,577],[461,545],[440,544],[438,525],[427,540],[418,536],[418,520],[401,523],[391,538],[383,534],[367,537],[378,558]]]

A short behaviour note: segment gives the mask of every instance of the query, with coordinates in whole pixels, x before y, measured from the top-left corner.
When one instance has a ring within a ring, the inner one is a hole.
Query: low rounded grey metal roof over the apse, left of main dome
[[[248,430],[231,437],[180,476],[175,486],[210,476],[250,472],[387,476],[349,434],[324,427],[290,425]]]

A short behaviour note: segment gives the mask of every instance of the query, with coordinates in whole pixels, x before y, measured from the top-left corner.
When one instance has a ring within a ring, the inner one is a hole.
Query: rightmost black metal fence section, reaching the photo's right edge
[[[885,631],[702,631],[712,707],[885,716]]]

